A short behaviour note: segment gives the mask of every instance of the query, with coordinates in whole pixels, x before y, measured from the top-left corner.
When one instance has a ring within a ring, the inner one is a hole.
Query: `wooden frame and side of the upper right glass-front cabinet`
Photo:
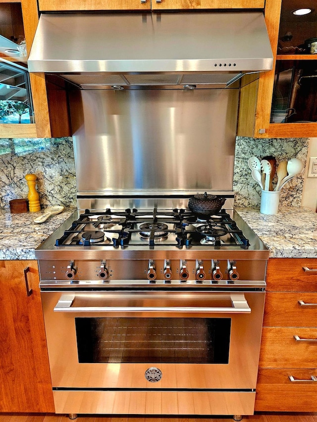
[[[301,107],[304,109],[306,108],[306,111],[309,108],[314,111],[313,113],[308,113],[310,118],[301,118],[301,114],[298,110],[293,109],[290,114],[294,113],[295,110],[299,116],[297,119],[298,122],[290,123],[294,120],[292,117],[292,119],[287,120],[288,123],[280,123],[279,121],[283,120],[282,114],[282,119],[279,119],[278,113],[276,114],[276,117],[272,113],[274,78],[276,79],[277,75],[280,74],[279,72],[283,69],[294,67],[294,73],[296,73],[296,69],[302,68],[303,66],[307,68],[312,67],[309,63],[312,64],[314,63],[313,60],[317,59],[316,54],[277,54],[278,44],[280,43],[279,28],[281,8],[285,7],[287,2],[290,3],[290,6],[293,6],[293,9],[296,8],[296,1],[265,1],[265,22],[274,57],[273,70],[260,74],[257,79],[250,78],[250,76],[243,78],[240,97],[240,113],[238,118],[238,136],[254,138],[301,138],[317,136],[317,119],[314,118],[316,114],[316,100],[315,97],[312,99],[307,98],[309,95],[306,92],[302,95],[306,102],[303,100]],[[307,28],[305,24],[301,24],[299,21],[297,29],[300,27],[302,27],[302,31],[305,31],[305,28]],[[307,37],[309,38],[309,36]],[[290,96],[293,97],[295,96],[294,93],[299,88],[295,79],[296,78],[292,79],[290,88]],[[291,91],[293,91],[293,93]],[[294,105],[290,105],[294,107]],[[309,120],[313,121],[309,122]]]

